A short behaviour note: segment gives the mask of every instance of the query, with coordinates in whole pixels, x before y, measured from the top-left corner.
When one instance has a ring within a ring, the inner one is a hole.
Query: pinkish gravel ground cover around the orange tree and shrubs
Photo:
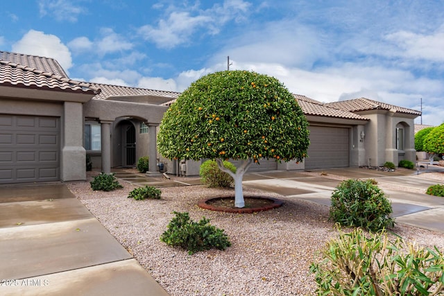
[[[443,182],[443,176],[418,175],[438,182]],[[67,186],[173,296],[310,295],[316,286],[309,265],[327,240],[337,235],[334,223],[327,220],[328,207],[305,200],[244,189],[246,195],[279,198],[284,206],[257,214],[229,214],[200,209],[196,204],[209,196],[227,195],[232,189],[168,187],[161,189],[161,200],[140,201],[127,198],[135,188],[133,184],[121,184],[123,189],[111,192],[92,191],[89,182]],[[173,211],[187,211],[193,220],[209,218],[212,225],[225,229],[232,246],[190,256],[185,250],[162,243],[160,235],[173,218]],[[394,232],[408,241],[444,250],[442,233],[407,225],[396,225]]]

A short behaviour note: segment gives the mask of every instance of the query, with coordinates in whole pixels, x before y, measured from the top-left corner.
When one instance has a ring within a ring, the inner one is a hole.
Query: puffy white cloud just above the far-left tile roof
[[[71,52],[56,35],[30,30],[12,44],[12,51],[56,59],[65,71],[72,66]]]

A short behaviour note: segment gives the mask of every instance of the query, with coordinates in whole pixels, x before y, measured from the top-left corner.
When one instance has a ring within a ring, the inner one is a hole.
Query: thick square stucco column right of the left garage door
[[[86,180],[86,150],[83,148],[82,103],[65,102],[63,105],[62,181]]]

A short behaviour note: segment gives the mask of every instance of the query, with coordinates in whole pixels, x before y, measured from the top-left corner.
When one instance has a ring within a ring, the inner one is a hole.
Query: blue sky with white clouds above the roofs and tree
[[[366,97],[444,121],[444,1],[3,1],[0,50],[77,80],[181,92],[246,69],[322,102]],[[420,117],[416,123],[420,123]]]

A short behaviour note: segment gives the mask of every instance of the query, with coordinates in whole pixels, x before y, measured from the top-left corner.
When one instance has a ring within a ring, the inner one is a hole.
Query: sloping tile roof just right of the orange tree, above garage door
[[[369,120],[359,114],[348,112],[346,110],[340,110],[335,107],[329,107],[324,103],[316,101],[312,98],[308,98],[307,96],[301,96],[299,94],[293,94],[293,96],[296,98],[296,101],[300,105],[300,108],[305,115],[326,116],[340,119],[358,119],[365,121]]]

